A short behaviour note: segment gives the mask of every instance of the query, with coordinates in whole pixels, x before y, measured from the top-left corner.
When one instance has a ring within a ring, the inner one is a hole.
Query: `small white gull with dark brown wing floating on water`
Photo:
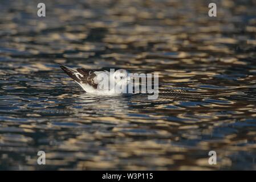
[[[131,81],[131,77],[125,69],[118,69],[112,73],[84,68],[72,69],[64,65],[60,65],[60,68],[78,83],[84,91],[95,95],[115,96],[127,93],[127,85]]]

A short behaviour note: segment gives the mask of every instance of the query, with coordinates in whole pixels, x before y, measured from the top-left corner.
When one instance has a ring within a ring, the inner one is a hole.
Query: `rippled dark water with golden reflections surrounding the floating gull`
[[[256,2],[214,2],[1,1],[0,169],[256,169]],[[57,63],[159,73],[159,98],[89,96]]]

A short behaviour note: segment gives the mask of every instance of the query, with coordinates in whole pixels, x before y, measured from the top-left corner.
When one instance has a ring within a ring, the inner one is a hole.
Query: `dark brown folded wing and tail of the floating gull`
[[[60,68],[62,68],[63,71],[76,82],[79,82],[80,84],[88,84],[93,88],[97,89],[97,83],[95,83],[94,81],[94,78],[96,76],[94,70],[87,70],[84,68],[78,68],[75,70],[65,67],[64,65],[61,65]],[[82,76],[78,76],[76,75],[76,73],[80,73]]]

